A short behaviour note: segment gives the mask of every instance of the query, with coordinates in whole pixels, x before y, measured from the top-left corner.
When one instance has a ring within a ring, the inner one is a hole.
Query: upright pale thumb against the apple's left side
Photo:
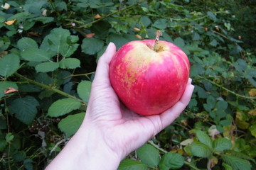
[[[110,62],[112,57],[116,52],[116,47],[113,42],[107,46],[106,51],[100,57],[100,60],[97,64],[96,74],[95,74],[95,84],[110,84],[109,81],[109,70],[110,70]]]

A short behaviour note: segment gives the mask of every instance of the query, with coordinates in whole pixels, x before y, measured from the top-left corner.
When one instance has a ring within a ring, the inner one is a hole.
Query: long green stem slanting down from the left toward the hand
[[[43,89],[48,89],[48,90],[54,91],[55,93],[60,94],[60,95],[62,95],[62,96],[65,96],[65,97],[68,97],[68,98],[73,98],[73,99],[75,99],[75,100],[77,100],[77,101],[80,101],[80,102],[82,103],[82,105],[87,106],[87,103],[85,103],[84,101],[82,101],[80,98],[77,98],[77,97],[75,97],[75,96],[72,96],[72,95],[70,95],[70,94],[67,94],[67,93],[65,93],[64,91],[60,91],[59,89],[55,89],[55,87],[53,87],[53,86],[48,86],[48,85],[46,85],[46,84],[41,84],[41,83],[39,83],[38,81],[33,81],[33,80],[31,80],[31,79],[28,79],[27,77],[24,77],[24,76],[21,75],[21,74],[18,74],[17,72],[15,73],[15,75],[16,75],[17,77],[20,77],[21,79],[25,79],[26,81],[28,81],[28,83],[35,84],[36,86],[41,86]]]

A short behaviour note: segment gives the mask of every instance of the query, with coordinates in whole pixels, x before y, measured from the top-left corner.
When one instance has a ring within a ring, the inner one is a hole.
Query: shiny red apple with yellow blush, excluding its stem
[[[127,108],[157,115],[174,106],[186,89],[190,63],[171,42],[134,40],[123,45],[110,62],[110,82]]]

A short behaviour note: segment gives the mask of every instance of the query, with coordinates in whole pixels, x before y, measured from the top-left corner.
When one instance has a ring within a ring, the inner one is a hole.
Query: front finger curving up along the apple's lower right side
[[[194,86],[192,84],[188,84],[186,86],[186,90],[183,93],[181,99],[169,110],[161,113],[161,125],[162,128],[166,128],[166,126],[170,125],[178,116],[182,113],[182,111],[188,106],[189,101],[191,100],[191,96],[193,94]]]

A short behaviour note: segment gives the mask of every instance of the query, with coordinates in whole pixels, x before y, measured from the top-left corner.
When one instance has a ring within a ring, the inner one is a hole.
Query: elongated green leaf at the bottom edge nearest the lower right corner
[[[221,157],[226,164],[229,164],[236,170],[250,170],[252,167],[250,162],[239,157],[234,157],[228,154],[222,154]]]

